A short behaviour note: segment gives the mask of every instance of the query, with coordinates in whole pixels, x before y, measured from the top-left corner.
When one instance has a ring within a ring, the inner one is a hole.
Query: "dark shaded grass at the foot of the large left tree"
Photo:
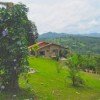
[[[16,93],[1,92],[0,100],[37,100],[34,91],[29,89],[20,89]]]

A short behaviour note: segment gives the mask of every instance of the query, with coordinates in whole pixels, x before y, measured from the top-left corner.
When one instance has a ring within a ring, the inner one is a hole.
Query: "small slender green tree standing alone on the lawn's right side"
[[[72,55],[71,57],[69,57],[67,59],[67,64],[69,67],[69,77],[72,80],[72,84],[73,86],[79,86],[81,84],[83,84],[83,80],[80,77],[80,73],[79,73],[79,58],[77,54]]]

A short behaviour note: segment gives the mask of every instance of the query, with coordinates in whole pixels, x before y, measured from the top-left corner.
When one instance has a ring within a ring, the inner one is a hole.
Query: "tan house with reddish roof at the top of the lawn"
[[[47,42],[38,42],[38,49],[36,50],[36,54],[38,56],[44,56],[44,57],[64,57],[67,53],[67,48],[54,44],[54,43],[47,43]],[[31,51],[34,45],[29,47],[29,50]]]

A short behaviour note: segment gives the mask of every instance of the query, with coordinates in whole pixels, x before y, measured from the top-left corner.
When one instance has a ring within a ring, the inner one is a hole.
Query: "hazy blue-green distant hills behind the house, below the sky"
[[[73,52],[100,54],[100,37],[69,35],[48,32],[39,36],[39,41],[47,41],[69,47]]]

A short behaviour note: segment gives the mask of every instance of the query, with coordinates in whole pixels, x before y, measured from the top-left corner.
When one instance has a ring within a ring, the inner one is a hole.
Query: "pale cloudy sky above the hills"
[[[0,0],[21,2],[39,34],[46,32],[100,33],[100,0]]]

